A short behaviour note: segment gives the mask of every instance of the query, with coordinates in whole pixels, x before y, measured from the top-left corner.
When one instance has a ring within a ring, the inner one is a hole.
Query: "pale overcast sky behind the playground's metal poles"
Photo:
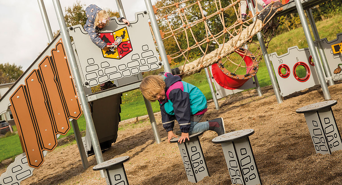
[[[60,0],[62,10],[73,6],[76,0]],[[96,4],[102,9],[118,11],[115,0],[80,0],[81,4]],[[152,0],[154,4],[155,0]],[[52,32],[59,30],[52,0],[45,0]],[[146,10],[144,0],[122,0],[129,21],[134,13]],[[0,63],[22,66],[25,71],[49,42],[37,0],[0,0]]]

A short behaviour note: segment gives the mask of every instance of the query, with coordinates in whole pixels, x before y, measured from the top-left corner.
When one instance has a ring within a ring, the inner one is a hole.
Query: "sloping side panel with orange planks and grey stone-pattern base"
[[[70,130],[69,121],[82,115],[73,75],[60,35],[0,99],[9,106],[25,153],[0,176],[0,184],[20,184],[44,162],[57,138]]]

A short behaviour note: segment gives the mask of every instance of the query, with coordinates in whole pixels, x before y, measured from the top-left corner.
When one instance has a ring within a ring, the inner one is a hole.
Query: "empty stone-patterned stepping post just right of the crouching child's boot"
[[[255,163],[249,136],[253,129],[238,130],[218,136],[213,143],[221,143],[229,175],[233,184],[262,184],[257,164]]]

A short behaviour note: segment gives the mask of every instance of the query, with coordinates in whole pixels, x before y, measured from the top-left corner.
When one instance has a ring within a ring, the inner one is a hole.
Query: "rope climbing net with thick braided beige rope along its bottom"
[[[171,59],[179,62],[184,60],[184,65],[179,67],[182,77],[192,75],[224,58],[221,65],[231,62],[236,66],[231,70],[233,74],[240,67],[251,70],[258,66],[262,54],[259,43],[252,38],[267,27],[263,33],[267,47],[276,27],[271,20],[279,10],[274,9],[276,1],[272,1],[243,21],[241,1],[244,0],[184,0],[176,3],[168,0],[156,3],[154,13],[158,17],[169,62]],[[269,26],[272,22],[273,26]],[[241,52],[241,47],[245,46],[249,50],[252,44],[257,48],[254,54]],[[234,52],[243,55],[240,61],[231,59]],[[252,66],[244,65],[242,62],[246,56],[257,60]],[[191,59],[195,60],[190,62]]]

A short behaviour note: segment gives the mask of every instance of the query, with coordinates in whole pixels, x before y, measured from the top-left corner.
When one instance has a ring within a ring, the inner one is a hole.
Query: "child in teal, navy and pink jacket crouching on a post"
[[[178,75],[165,73],[162,76],[151,75],[143,79],[140,90],[149,101],[159,101],[163,127],[168,132],[168,142],[173,137],[174,120],[176,119],[181,137],[178,142],[185,142],[189,134],[212,130],[218,136],[225,134],[223,118],[216,118],[198,123],[207,111],[207,100],[194,85],[182,81]]]

